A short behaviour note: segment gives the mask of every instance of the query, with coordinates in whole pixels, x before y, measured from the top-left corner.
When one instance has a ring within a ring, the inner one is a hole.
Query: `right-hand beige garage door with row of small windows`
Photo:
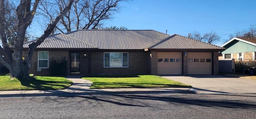
[[[212,53],[188,52],[188,74],[212,74]]]

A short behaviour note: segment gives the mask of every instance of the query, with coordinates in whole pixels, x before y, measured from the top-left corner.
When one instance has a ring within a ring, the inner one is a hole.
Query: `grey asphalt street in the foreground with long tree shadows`
[[[0,98],[0,118],[253,119],[256,94]]]

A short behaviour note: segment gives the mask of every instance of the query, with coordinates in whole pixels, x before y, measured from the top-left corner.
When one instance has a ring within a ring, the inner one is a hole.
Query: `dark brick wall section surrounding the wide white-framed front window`
[[[128,52],[128,67],[104,68],[104,52],[90,53],[91,74],[149,74],[148,53]]]

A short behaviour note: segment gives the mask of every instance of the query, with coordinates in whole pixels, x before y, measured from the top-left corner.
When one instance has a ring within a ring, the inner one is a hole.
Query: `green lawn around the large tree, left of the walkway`
[[[32,80],[10,79],[10,76],[0,76],[0,90],[53,90],[65,89],[72,81],[64,77],[36,76]]]

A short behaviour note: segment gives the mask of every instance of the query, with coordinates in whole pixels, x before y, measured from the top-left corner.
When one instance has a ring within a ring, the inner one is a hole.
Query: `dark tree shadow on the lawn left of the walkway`
[[[35,90],[54,90],[53,86],[61,86],[64,88],[68,88],[69,86],[65,86],[64,84],[71,84],[72,82],[60,82],[60,81],[45,81],[45,80],[38,80],[38,79],[18,79],[22,86],[27,86],[30,88],[34,88]],[[63,85],[61,85],[63,84]],[[50,85],[50,86],[44,86]]]

